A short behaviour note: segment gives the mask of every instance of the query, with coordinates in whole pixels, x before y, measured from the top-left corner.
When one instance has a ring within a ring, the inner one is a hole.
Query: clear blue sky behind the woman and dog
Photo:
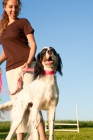
[[[0,18],[2,12],[0,0]],[[36,55],[44,46],[52,46],[62,58],[55,119],[75,120],[77,105],[79,120],[93,120],[93,0],[22,0],[19,17],[27,18],[35,29]],[[8,91],[5,62],[1,68]],[[4,92],[1,98],[0,104],[10,100]]]

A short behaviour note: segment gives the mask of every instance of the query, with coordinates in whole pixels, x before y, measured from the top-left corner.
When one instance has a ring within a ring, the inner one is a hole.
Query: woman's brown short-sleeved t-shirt
[[[27,34],[34,33],[29,21],[21,18],[8,25],[0,37],[6,55],[6,71],[23,65],[29,57]]]

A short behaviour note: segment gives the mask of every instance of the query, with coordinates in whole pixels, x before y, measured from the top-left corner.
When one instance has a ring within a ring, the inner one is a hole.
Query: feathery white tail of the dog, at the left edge
[[[13,106],[13,100],[8,101],[4,104],[0,104],[0,118],[4,119],[2,114],[5,114],[6,111],[10,111]]]

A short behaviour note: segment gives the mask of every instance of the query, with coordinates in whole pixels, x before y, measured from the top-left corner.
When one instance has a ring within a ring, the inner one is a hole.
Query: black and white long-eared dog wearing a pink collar
[[[47,110],[49,140],[54,140],[55,109],[59,100],[56,73],[62,76],[62,60],[53,47],[44,47],[37,55],[34,81],[21,90],[14,101],[0,105],[0,111],[11,110],[11,127],[6,140],[10,140],[29,108],[27,140],[38,140],[37,127],[40,110]]]

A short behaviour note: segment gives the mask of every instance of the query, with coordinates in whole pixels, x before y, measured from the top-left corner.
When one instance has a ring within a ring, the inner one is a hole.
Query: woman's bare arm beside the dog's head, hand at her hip
[[[22,69],[23,69],[23,68],[27,68],[28,65],[31,64],[31,62],[33,61],[33,58],[34,58],[34,56],[35,56],[36,49],[37,49],[34,35],[33,35],[33,34],[28,34],[28,35],[27,35],[27,39],[28,39],[28,42],[29,42],[29,45],[30,45],[30,53],[29,53],[29,56],[28,56],[28,60],[27,60],[27,62],[22,66]]]

